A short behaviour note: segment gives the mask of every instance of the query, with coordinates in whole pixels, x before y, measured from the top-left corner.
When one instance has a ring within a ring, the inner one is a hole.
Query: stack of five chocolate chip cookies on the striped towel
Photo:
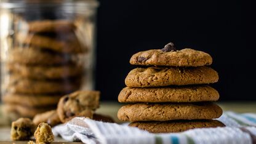
[[[130,58],[135,68],[126,77],[118,100],[121,121],[153,133],[182,132],[201,127],[224,126],[214,120],[222,109],[213,103],[217,90],[208,84],[218,81],[209,65],[212,57],[193,49],[176,50],[173,43],[163,49],[138,52]]]

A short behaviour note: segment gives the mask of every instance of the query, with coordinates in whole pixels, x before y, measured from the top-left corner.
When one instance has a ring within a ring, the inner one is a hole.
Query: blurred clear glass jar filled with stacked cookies
[[[94,89],[98,2],[1,2],[1,99],[9,118],[55,109],[63,95]]]

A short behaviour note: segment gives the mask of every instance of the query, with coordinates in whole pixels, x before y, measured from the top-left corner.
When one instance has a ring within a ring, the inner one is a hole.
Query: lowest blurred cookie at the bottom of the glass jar
[[[18,116],[33,118],[38,113],[44,113],[44,111],[54,110],[55,106],[44,106],[41,108],[30,108],[27,106],[5,103],[2,106],[5,113],[15,113]]]

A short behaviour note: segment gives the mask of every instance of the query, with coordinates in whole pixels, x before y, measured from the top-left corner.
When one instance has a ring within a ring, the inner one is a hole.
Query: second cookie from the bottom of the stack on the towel
[[[215,103],[136,103],[118,111],[121,121],[170,121],[176,119],[215,119],[222,108]]]

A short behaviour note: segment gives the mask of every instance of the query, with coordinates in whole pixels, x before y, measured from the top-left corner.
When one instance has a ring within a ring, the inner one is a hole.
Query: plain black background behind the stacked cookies
[[[220,100],[256,100],[255,7],[250,1],[100,1],[96,89],[117,100],[141,50],[172,41],[212,55]]]

